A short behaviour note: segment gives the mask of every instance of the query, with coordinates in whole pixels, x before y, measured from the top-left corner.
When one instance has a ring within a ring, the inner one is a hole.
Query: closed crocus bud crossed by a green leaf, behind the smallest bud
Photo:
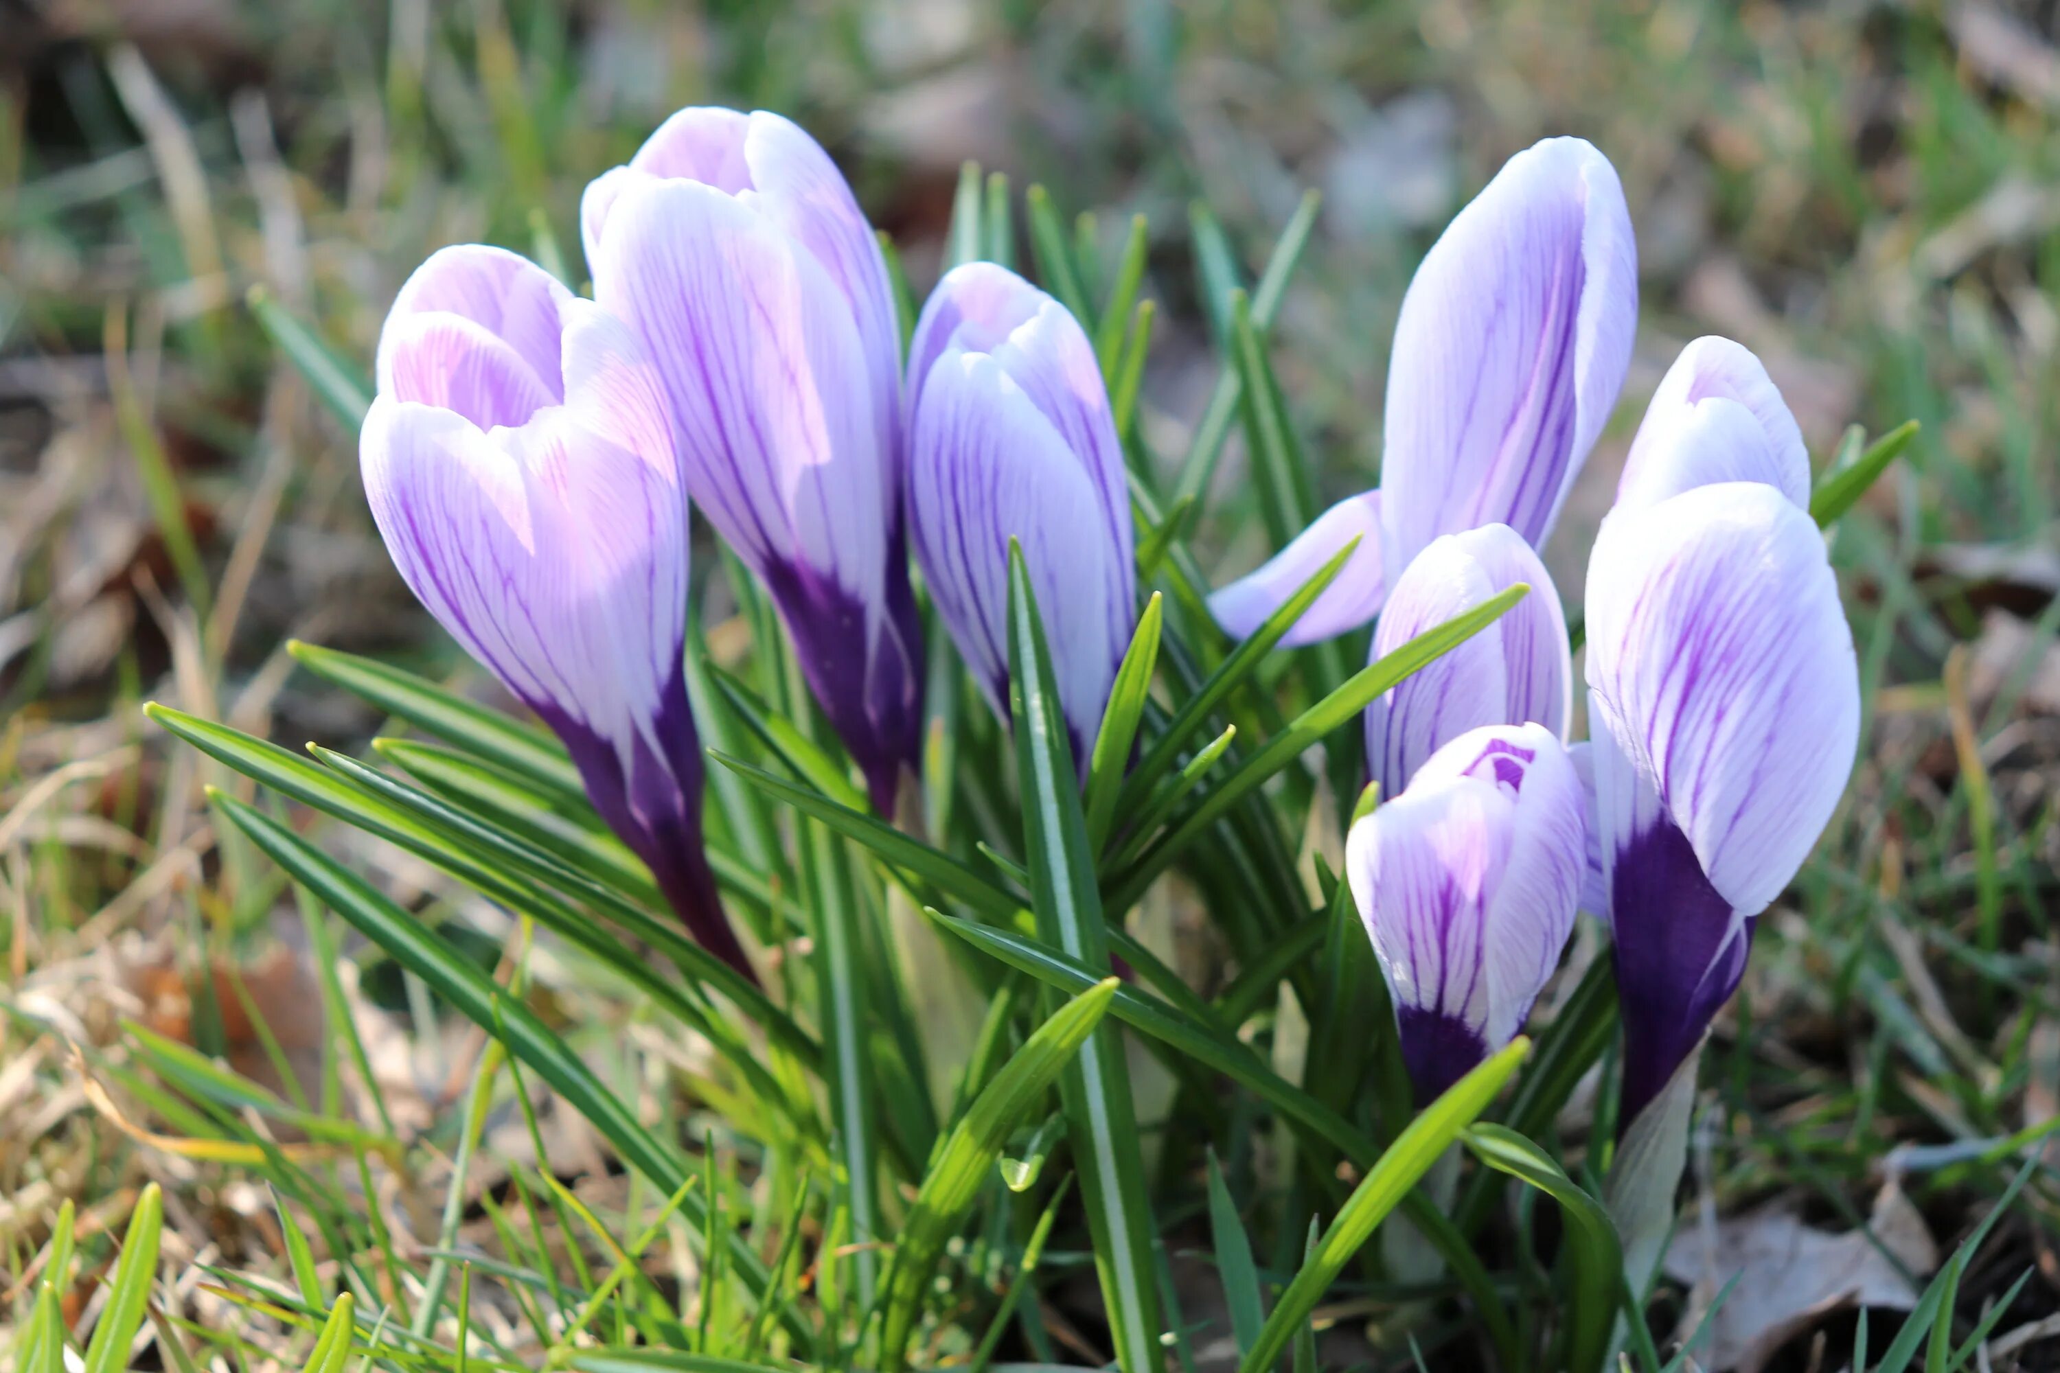
[[[1545,564],[1508,525],[1448,533],[1417,554],[1380,611],[1372,657],[1516,583],[1531,587],[1524,599],[1366,708],[1366,768],[1382,795],[1409,786],[1432,753],[1469,729],[1529,723],[1566,737],[1574,708],[1566,613]]]

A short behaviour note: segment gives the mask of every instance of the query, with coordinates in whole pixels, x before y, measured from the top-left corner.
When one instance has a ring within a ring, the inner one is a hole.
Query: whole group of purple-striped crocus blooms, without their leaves
[[[1123,449],[1082,325],[1001,266],[950,272],[904,362],[871,226],[779,115],[680,111],[587,187],[581,228],[593,301],[486,247],[410,278],[365,484],[408,585],[564,739],[688,928],[748,970],[700,852],[688,502],[764,583],[892,813],[923,708],[911,554],[1005,714],[1022,545],[1086,760],[1137,622]],[[1537,550],[1617,403],[1636,276],[1596,148],[1510,159],[1403,301],[1380,488],[1211,599],[1250,634],[1358,539],[1283,642],[1378,618],[1378,657],[1531,587],[1366,712],[1382,803],[1347,877],[1426,1099],[1520,1031],[1586,908],[1615,941],[1636,1120],[1693,1062],[1852,764],[1858,673],[1807,451],[1753,354],[1718,338],[1652,397],[1594,541],[1590,739],[1570,741],[1574,659]]]

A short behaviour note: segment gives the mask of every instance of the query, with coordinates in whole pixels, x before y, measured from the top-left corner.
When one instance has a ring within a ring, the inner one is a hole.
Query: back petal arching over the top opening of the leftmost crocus
[[[554,401],[562,399],[558,311],[571,298],[573,292],[558,278],[519,253],[484,243],[439,249],[402,284],[387,311],[375,364],[379,389],[396,389],[393,350],[410,338],[396,325],[412,315],[455,315],[501,340]]]

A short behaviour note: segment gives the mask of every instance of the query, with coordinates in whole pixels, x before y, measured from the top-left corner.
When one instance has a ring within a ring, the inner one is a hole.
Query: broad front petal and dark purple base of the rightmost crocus
[[[1737,990],[1852,770],[1858,663],[1815,521],[1765,482],[1613,513],[1586,671],[1632,1122]]]

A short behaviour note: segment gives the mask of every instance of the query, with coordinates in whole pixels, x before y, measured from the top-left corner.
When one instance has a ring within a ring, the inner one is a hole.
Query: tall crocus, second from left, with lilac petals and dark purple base
[[[900,329],[851,187],[791,121],[682,109],[587,187],[593,294],[657,364],[686,490],[770,589],[873,805],[921,737]]]

